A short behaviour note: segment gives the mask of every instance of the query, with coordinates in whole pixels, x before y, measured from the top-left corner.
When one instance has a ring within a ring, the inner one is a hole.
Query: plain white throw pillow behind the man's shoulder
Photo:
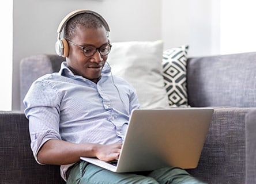
[[[168,108],[164,89],[163,41],[112,43],[108,62],[112,73],[126,79],[137,91],[141,108]]]

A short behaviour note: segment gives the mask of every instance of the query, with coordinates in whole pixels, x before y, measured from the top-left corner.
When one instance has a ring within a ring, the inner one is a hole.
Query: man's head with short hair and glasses
[[[100,79],[111,49],[107,30],[109,28],[106,28],[106,22],[92,13],[79,13],[66,21],[66,60],[74,74],[93,82]]]

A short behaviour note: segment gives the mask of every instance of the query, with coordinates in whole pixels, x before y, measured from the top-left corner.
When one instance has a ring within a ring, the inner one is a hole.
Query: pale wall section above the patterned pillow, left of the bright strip
[[[164,48],[189,45],[189,56],[219,53],[220,0],[162,1]]]

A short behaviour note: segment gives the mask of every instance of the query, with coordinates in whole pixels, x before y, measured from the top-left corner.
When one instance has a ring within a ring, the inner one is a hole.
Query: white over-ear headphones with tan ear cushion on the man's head
[[[70,18],[76,16],[77,14],[82,14],[82,13],[91,13],[95,15],[96,17],[100,18],[104,28],[107,30],[107,33],[110,32],[110,27],[107,24],[107,21],[104,20],[104,18],[99,14],[96,13],[95,11],[92,10],[74,10],[71,11],[59,24],[59,27],[57,29],[58,37],[57,37],[57,42],[55,43],[55,51],[57,55],[62,56],[62,57],[67,57],[69,55],[69,44],[67,43],[66,39],[61,39],[61,32],[66,25],[66,22],[70,20]]]

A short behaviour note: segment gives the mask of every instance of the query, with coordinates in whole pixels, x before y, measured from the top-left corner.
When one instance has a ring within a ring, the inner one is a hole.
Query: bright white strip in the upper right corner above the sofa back
[[[255,52],[256,1],[225,0],[220,7],[220,53]]]

